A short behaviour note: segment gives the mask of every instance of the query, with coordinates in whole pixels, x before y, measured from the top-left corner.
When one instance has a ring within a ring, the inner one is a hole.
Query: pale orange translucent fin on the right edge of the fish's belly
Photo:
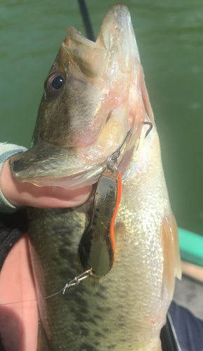
[[[174,293],[174,278],[181,279],[181,258],[179,252],[179,233],[173,213],[162,221],[163,243],[163,284],[172,298]]]

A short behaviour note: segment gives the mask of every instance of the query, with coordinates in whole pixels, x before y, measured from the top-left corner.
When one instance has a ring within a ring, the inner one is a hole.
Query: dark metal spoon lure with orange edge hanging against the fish
[[[92,269],[96,277],[109,273],[116,256],[114,224],[121,199],[122,180],[117,168],[123,144],[107,160],[106,169],[100,176],[94,192],[92,219],[79,244],[80,263],[84,270]]]

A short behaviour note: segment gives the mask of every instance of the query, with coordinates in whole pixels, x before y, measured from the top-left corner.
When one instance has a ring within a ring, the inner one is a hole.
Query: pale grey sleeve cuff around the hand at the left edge
[[[1,169],[3,167],[4,162],[9,159],[9,157],[13,156],[13,154],[18,154],[18,152],[25,152],[27,150],[26,147],[14,145],[14,144],[6,144],[0,143],[0,174]],[[6,200],[6,197],[3,196],[0,187],[0,211],[1,212],[15,212],[18,207],[13,206]]]

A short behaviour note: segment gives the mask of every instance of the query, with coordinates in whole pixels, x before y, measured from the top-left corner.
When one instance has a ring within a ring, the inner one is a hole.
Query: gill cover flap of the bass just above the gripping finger
[[[134,142],[130,133],[117,149],[119,150],[117,166],[122,167],[126,164],[127,160],[125,159],[124,163],[123,157],[132,148]],[[42,140],[30,150],[10,157],[10,171],[20,183],[31,183],[38,187],[57,186],[75,190],[85,185],[93,185],[99,180],[112,154],[100,157],[99,164],[94,159],[87,164],[86,157],[81,154],[82,151],[85,154],[84,149],[63,149]]]

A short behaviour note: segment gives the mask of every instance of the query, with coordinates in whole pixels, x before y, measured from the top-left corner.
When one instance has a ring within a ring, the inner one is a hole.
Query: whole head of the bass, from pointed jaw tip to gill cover
[[[32,147],[13,157],[10,170],[20,183],[91,185],[131,128],[118,163],[138,142],[146,115],[153,121],[130,12],[118,4],[96,42],[67,28],[45,80]]]

